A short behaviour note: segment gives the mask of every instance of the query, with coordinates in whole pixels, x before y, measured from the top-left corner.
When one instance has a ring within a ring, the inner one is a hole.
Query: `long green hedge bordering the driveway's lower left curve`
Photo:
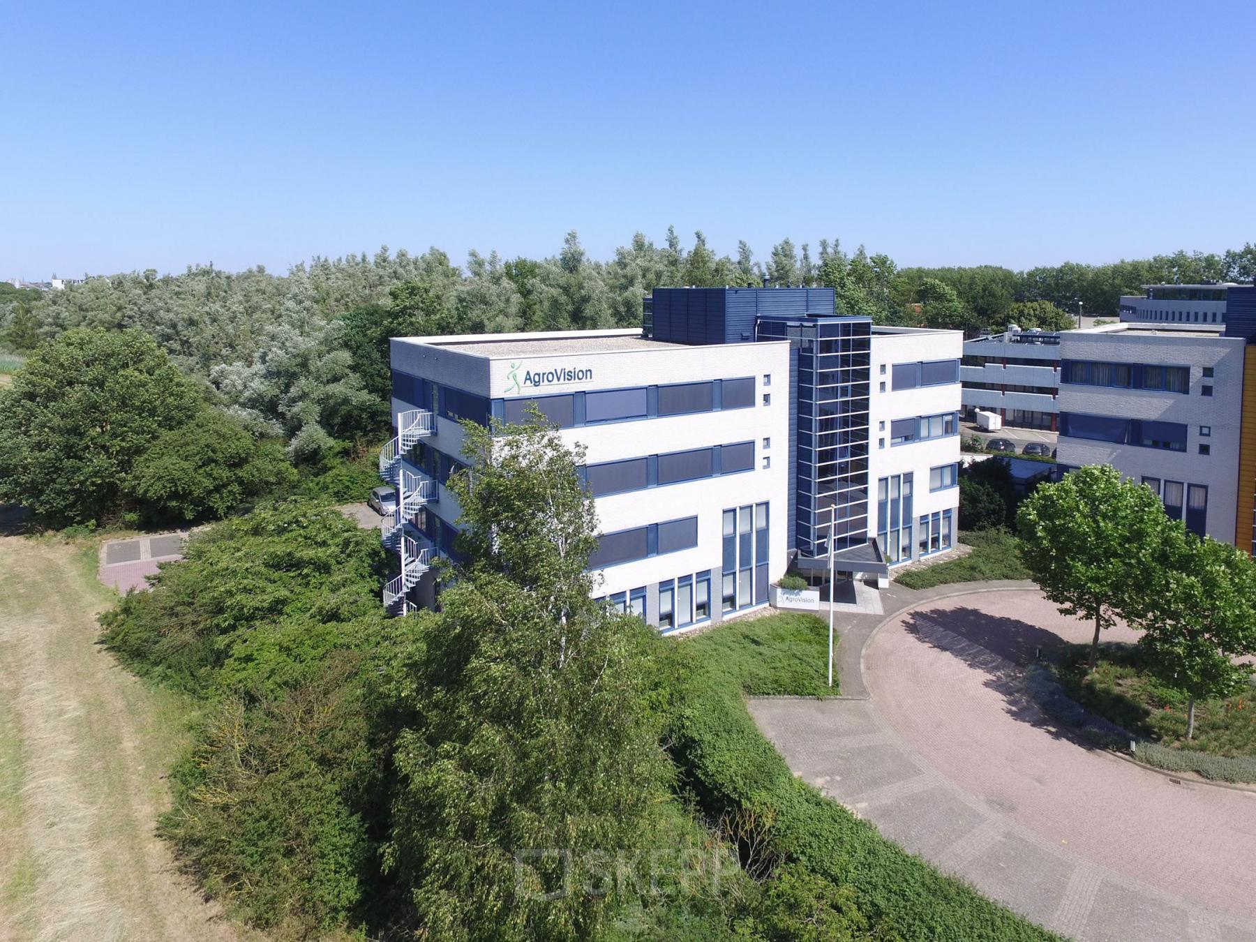
[[[852,887],[859,909],[903,938],[1056,938],[795,779],[755,726],[741,691],[718,683],[718,672],[700,666],[690,679],[673,722],[673,755],[706,815],[745,810],[772,821],[777,854]]]

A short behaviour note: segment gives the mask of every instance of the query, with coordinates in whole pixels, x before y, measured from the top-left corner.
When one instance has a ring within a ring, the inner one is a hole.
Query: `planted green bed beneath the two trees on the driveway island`
[[[1139,649],[1109,644],[1086,676],[1086,646],[1074,646],[1060,663],[1070,697],[1130,732],[1164,746],[1218,756],[1256,756],[1256,687],[1235,697],[1194,706],[1194,739],[1186,739],[1184,693],[1166,687],[1140,667]]]

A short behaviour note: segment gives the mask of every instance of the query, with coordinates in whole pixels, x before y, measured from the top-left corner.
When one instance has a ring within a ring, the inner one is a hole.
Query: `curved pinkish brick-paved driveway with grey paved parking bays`
[[[1256,795],[1174,784],[1058,730],[1019,666],[1061,636],[1089,629],[1032,589],[926,602],[868,642],[870,700],[751,708],[798,774],[1049,928],[1256,939]]]

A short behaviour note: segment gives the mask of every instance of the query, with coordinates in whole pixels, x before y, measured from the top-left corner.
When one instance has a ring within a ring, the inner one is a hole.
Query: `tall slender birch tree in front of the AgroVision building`
[[[579,456],[539,425],[495,432],[468,426],[451,479],[466,561],[438,614],[398,627],[411,717],[386,860],[433,936],[590,938],[624,903],[598,855],[666,839],[662,646],[589,599]]]

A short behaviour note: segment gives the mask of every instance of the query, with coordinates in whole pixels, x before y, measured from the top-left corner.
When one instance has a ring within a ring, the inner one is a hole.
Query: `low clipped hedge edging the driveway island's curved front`
[[[1103,749],[1129,752],[1134,741],[1134,757],[1140,762],[1171,772],[1196,772],[1205,779],[1228,782],[1256,782],[1256,757],[1253,756],[1215,756],[1208,752],[1196,752],[1186,749],[1162,746],[1147,742],[1095,716],[1075,700],[1070,698],[1055,674],[1041,664],[1031,664],[1027,674],[1030,696],[1042,707],[1048,716],[1078,730],[1088,741]],[[1135,741],[1137,740],[1137,741]]]

